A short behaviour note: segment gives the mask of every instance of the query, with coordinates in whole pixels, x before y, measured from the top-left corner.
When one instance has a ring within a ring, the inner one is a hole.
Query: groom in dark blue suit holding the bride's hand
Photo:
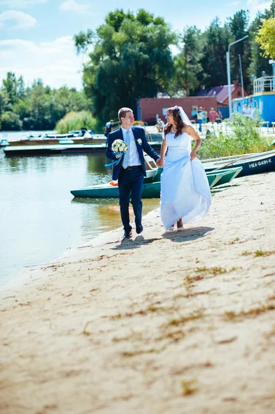
[[[128,144],[128,151],[122,155],[122,159],[119,164],[114,166],[112,179],[119,179],[119,205],[121,208],[121,221],[124,228],[123,239],[130,239],[132,236],[132,227],[130,226],[129,217],[131,193],[131,204],[134,209],[136,233],[139,235],[143,230],[143,226],[141,224],[141,191],[143,186],[143,178],[146,177],[143,151],[156,161],[156,165],[159,164],[160,157],[147,143],[143,128],[136,128],[132,126],[134,124],[132,109],[121,108],[119,110],[119,121],[121,122],[121,128],[114,132],[110,132],[108,136],[106,155],[114,161],[121,157],[121,155],[116,155],[112,151],[112,143],[115,139],[123,139],[123,141]]]

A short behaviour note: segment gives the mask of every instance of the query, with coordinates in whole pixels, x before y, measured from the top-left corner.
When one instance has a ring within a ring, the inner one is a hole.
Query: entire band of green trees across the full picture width
[[[1,130],[50,130],[68,112],[82,110],[92,112],[100,125],[116,118],[119,107],[135,110],[142,97],[156,97],[158,92],[185,97],[226,85],[228,44],[247,34],[230,49],[231,79],[240,79],[241,55],[244,87],[252,92],[252,76],[272,70],[270,53],[264,55],[260,47],[268,43],[270,48],[274,26],[266,28],[265,20],[275,22],[274,6],[272,0],[253,21],[247,10],[240,10],[223,24],[216,17],[204,31],[187,26],[181,33],[143,9],[136,14],[110,12],[96,32],[74,36],[77,53],[89,58],[83,65],[83,91],[67,86],[51,89],[41,79],[26,87],[22,77],[7,73],[0,88]],[[172,45],[178,50],[175,55]]]

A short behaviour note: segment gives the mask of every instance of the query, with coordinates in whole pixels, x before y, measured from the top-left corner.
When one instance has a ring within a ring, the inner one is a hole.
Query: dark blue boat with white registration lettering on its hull
[[[203,166],[205,172],[211,172],[217,168],[223,170],[231,166],[242,167],[243,169],[239,172],[238,177],[275,171],[275,150],[239,155],[230,157],[230,159],[204,160]]]

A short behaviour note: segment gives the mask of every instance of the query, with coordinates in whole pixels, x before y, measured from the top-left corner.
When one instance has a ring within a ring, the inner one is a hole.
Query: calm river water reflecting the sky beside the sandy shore
[[[8,158],[0,149],[0,284],[121,226],[118,199],[76,199],[70,193],[110,181],[105,163],[104,154]],[[143,200],[143,215],[158,207],[159,199]]]

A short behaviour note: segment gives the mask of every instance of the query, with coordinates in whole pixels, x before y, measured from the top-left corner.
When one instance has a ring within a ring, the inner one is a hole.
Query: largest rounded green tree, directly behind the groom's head
[[[81,33],[74,41],[78,51],[93,47],[83,83],[92,112],[101,121],[116,117],[121,106],[135,110],[140,97],[165,91],[174,74],[170,45],[176,37],[163,19],[143,9],[136,17],[115,10],[96,34]]]

